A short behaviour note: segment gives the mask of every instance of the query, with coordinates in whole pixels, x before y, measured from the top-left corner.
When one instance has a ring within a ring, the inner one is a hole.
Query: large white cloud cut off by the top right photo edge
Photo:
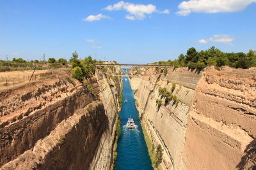
[[[177,15],[195,13],[221,13],[242,11],[256,0],[189,0],[179,4]]]

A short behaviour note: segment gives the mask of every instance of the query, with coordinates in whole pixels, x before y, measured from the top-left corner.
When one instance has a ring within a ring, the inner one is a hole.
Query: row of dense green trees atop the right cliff
[[[187,50],[186,55],[180,54],[178,59],[160,61],[158,64],[171,64],[174,67],[188,66],[190,68],[203,69],[207,66],[230,66],[248,69],[256,67],[256,53],[249,50],[248,53],[225,53],[212,46],[208,50],[197,52],[194,47]]]

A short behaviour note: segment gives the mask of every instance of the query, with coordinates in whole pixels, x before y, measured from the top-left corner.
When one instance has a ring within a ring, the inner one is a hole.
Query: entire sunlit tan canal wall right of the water
[[[152,143],[163,148],[163,169],[255,166],[255,156],[249,156],[256,138],[255,69],[184,67],[166,76],[140,71],[147,76],[130,77],[131,87],[142,124]],[[165,103],[159,88],[172,92],[172,100]]]

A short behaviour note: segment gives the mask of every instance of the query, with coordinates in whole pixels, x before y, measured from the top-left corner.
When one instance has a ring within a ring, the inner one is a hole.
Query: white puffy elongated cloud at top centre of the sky
[[[125,18],[129,20],[143,20],[146,17],[146,14],[151,14],[154,12],[157,13],[169,13],[169,10],[158,11],[156,6],[153,4],[133,4],[133,3],[125,3],[124,1],[120,1],[116,4],[109,5],[104,10],[108,11],[117,11],[117,10],[125,10],[129,13]]]

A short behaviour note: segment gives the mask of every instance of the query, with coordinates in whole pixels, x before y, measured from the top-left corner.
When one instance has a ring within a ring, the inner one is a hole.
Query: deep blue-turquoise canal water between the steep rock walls
[[[123,83],[123,104],[119,113],[122,134],[118,140],[115,169],[153,169],[141,129],[138,110],[135,107],[133,92],[126,76],[124,76]],[[124,102],[125,99],[128,101]],[[129,117],[134,119],[136,124],[134,129],[126,127]]]

